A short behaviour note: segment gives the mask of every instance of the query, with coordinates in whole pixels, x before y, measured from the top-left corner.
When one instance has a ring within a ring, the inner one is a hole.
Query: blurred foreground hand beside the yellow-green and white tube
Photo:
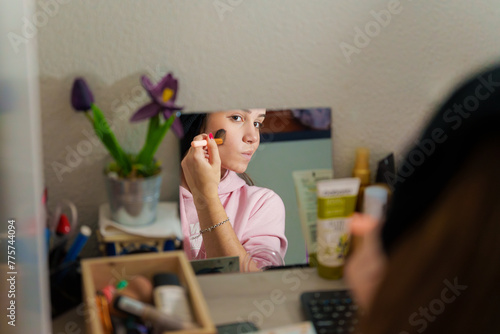
[[[369,311],[387,262],[380,242],[380,225],[369,215],[355,213],[351,219],[351,233],[363,238],[347,260],[345,278],[357,304]]]

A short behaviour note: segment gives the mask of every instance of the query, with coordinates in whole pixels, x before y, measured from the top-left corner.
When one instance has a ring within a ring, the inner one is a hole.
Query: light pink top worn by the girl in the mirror
[[[205,259],[203,237],[195,238],[200,233],[200,222],[193,195],[186,188],[179,188],[184,252],[190,260]],[[249,186],[235,172],[229,171],[219,183],[219,198],[247,252],[264,247],[278,251],[285,258],[288,245],[285,205],[274,191]]]

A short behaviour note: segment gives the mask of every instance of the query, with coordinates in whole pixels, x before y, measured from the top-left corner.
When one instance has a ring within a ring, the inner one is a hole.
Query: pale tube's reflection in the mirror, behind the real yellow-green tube
[[[320,180],[333,178],[331,169],[312,169],[294,171],[292,173],[295,184],[295,194],[297,196],[297,206],[299,210],[300,222],[302,225],[302,235],[306,241],[306,252],[308,262],[315,267],[316,260],[316,218],[317,218],[317,198],[316,183]]]

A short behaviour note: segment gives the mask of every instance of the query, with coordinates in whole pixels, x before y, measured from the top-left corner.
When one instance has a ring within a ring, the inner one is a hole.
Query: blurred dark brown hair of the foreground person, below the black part
[[[393,246],[361,333],[500,333],[499,171],[496,134]]]

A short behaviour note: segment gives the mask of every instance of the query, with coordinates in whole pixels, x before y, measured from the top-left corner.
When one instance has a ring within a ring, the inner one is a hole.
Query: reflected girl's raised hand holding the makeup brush
[[[193,140],[206,140],[206,147],[191,147],[181,162],[184,178],[193,194],[195,203],[208,203],[219,197],[221,161],[217,143],[207,134],[200,134]]]

